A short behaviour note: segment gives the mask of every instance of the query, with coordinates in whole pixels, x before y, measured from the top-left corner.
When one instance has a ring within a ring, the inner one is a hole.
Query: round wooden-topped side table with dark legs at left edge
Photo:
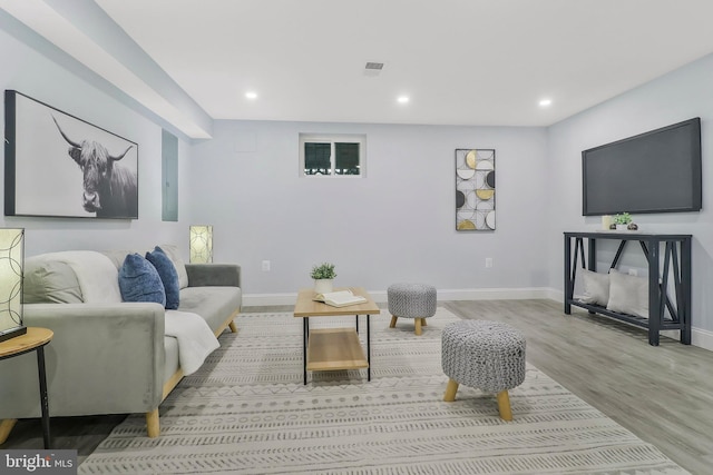
[[[40,407],[42,408],[42,438],[49,447],[49,404],[47,398],[47,373],[45,370],[45,345],[52,340],[55,333],[47,328],[28,327],[27,333],[0,342],[0,360],[37,352],[37,369],[40,378]],[[12,425],[10,425],[12,427]]]

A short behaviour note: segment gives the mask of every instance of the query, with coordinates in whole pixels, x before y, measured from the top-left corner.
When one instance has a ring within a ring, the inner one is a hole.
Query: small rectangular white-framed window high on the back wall
[[[367,137],[300,133],[300,176],[365,176]]]

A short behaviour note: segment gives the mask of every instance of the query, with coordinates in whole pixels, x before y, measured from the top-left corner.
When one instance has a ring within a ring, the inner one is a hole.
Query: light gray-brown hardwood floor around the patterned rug
[[[692,474],[711,473],[713,352],[668,338],[653,347],[644,329],[575,308],[567,316],[561,304],[551,300],[439,305],[462,318],[506,321],[519,328],[527,338],[528,363]],[[291,310],[291,306],[243,309]],[[76,448],[81,462],[124,417],[52,418],[55,448]],[[0,449],[41,448],[41,434],[39,419],[20,420]]]

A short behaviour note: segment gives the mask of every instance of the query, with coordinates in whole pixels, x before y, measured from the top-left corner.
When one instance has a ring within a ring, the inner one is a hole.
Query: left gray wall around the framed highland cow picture
[[[0,26],[14,31],[12,22],[0,17]],[[7,23],[6,23],[7,22]],[[21,31],[23,32],[23,30]],[[23,33],[25,34],[25,33]],[[30,43],[32,37],[29,36]],[[26,228],[26,255],[64,249],[108,249],[150,247],[160,243],[175,243],[187,257],[188,221],[185,209],[189,196],[188,174],[183,171],[191,157],[191,146],[179,140],[179,221],[162,222],[162,127],[127,107],[121,100],[97,88],[90,75],[81,71],[70,59],[47,48],[39,39],[28,46],[16,36],[0,29],[0,89],[16,89],[98,127],[139,144],[138,182],[139,219],[107,220],[84,218],[36,218],[0,216],[2,227]],[[4,130],[4,113],[0,115]],[[4,155],[4,147],[0,154]],[[57,160],[68,167],[76,164],[67,152]],[[38,170],[38,174],[41,170]],[[0,167],[0,188],[4,190],[4,167]],[[77,200],[81,189],[72,190]],[[4,199],[4,195],[0,199]],[[184,211],[182,211],[182,209]]]

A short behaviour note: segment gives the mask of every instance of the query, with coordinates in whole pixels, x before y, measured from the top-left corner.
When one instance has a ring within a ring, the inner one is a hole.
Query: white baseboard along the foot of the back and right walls
[[[369,295],[377,304],[387,303],[385,290],[369,290]],[[549,299],[563,303],[565,295],[561,290],[547,287],[537,288],[468,288],[438,290],[439,300],[521,300]],[[294,305],[297,294],[247,294],[243,296],[243,306]],[[678,339],[678,330],[662,331],[662,335]],[[691,345],[713,352],[713,331],[702,328],[691,329]]]

